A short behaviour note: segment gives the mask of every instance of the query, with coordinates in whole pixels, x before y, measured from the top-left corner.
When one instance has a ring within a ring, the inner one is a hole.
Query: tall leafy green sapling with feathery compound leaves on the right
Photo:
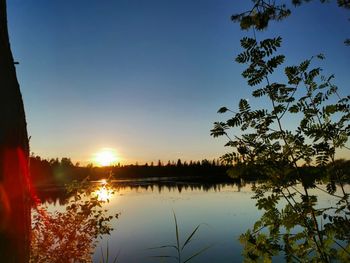
[[[241,235],[243,255],[247,262],[271,262],[279,254],[288,262],[348,262],[350,205],[344,184],[349,173],[335,153],[347,148],[350,96],[340,97],[334,76],[312,67],[314,60],[324,59],[322,54],[286,66],[285,80],[274,82],[275,70],[285,63],[277,54],[281,43],[280,37],[241,40],[243,51],[236,62],[247,66],[242,75],[255,88],[252,96],[271,106],[253,108],[241,99],[237,112],[219,111],[230,116],[211,130],[212,136],[229,140],[225,146],[230,152],[221,158],[234,165],[229,175],[244,178],[254,172],[266,179],[253,189],[264,214]],[[286,128],[290,120],[297,124],[294,130]],[[310,173],[314,165],[325,186]],[[329,194],[336,203],[318,207],[311,190]]]

